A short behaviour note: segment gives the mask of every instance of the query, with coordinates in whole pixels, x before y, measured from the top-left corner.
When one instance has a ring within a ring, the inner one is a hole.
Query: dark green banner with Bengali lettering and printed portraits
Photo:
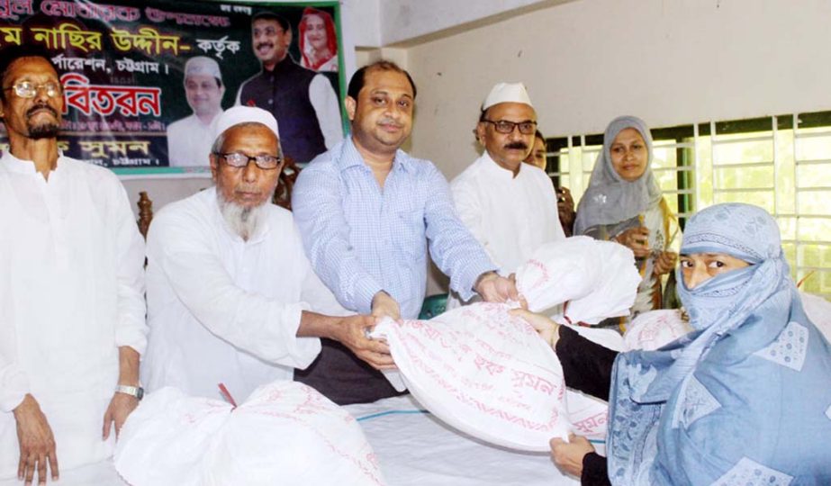
[[[58,68],[69,157],[119,175],[208,175],[214,122],[234,104],[272,112],[295,163],[343,137],[338,2],[135,5],[0,0],[0,56],[37,44]]]

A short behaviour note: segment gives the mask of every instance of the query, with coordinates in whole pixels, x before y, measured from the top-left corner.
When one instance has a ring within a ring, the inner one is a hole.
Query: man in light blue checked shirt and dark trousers
[[[399,148],[412,129],[416,89],[389,61],[357,70],[346,108],[352,133],[312,160],[294,185],[292,207],[317,274],[351,311],[415,319],[427,286],[427,250],[465,298],[517,298],[456,216],[447,180]],[[394,393],[377,371],[337,343],[295,379],[339,404]]]

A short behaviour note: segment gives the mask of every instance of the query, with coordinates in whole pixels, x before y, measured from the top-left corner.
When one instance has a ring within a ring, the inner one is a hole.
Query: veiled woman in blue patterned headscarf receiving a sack
[[[681,255],[695,330],[655,351],[616,356],[524,314],[547,328],[566,384],[610,401],[608,464],[574,436],[552,440],[556,463],[583,484],[831,484],[831,346],[802,309],[775,220],[712,206],[687,224]]]

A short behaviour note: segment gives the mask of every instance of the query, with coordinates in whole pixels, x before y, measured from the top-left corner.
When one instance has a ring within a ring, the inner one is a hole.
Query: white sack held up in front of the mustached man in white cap
[[[583,236],[543,245],[517,269],[530,311],[567,302],[563,317],[574,324],[628,315],[640,281],[632,250]]]

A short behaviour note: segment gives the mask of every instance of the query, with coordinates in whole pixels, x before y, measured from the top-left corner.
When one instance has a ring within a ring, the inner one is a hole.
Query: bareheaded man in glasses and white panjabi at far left
[[[140,399],[144,244],[118,178],[59,150],[49,56],[0,60],[0,484],[121,484],[109,458]]]

